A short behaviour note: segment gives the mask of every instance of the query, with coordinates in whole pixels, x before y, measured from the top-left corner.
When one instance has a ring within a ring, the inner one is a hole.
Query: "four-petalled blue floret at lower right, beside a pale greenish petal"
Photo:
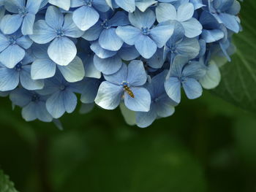
[[[189,99],[196,99],[203,92],[198,80],[205,74],[206,69],[199,62],[189,62],[188,58],[177,55],[170,66],[170,77],[165,81],[165,91],[170,99],[180,103],[182,86]]]

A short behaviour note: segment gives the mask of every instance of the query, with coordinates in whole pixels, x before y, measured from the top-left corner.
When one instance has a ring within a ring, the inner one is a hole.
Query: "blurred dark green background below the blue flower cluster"
[[[95,108],[26,123],[1,99],[0,169],[18,191],[256,191],[256,118],[208,91],[141,129]]]

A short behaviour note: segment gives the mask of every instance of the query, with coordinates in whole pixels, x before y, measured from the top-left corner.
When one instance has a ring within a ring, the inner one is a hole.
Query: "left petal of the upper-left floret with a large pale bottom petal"
[[[36,43],[45,44],[56,37],[56,31],[50,28],[45,20],[38,20],[34,23],[34,33],[29,37]]]

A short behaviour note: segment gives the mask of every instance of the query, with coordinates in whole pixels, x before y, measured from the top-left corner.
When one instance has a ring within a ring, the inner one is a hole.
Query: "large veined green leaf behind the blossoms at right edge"
[[[236,34],[233,42],[237,52],[232,62],[221,67],[222,82],[214,90],[218,96],[256,112],[256,1],[241,3],[241,23],[243,31]]]

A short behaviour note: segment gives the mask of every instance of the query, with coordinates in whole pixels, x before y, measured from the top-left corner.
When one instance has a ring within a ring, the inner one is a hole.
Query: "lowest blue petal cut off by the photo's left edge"
[[[19,82],[20,76],[15,69],[0,68],[0,91],[12,91]]]

